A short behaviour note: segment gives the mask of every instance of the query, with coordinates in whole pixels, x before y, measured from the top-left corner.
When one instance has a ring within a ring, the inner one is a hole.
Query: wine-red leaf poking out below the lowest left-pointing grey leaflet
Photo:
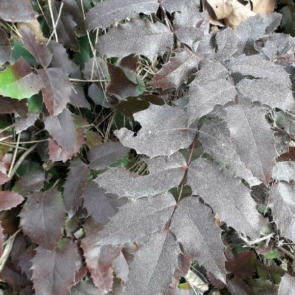
[[[91,274],[95,286],[100,291],[102,291],[101,289],[104,289],[104,281],[107,283],[106,285],[108,285],[109,281],[111,281],[112,287],[112,266],[115,259],[120,255],[121,251],[119,246],[97,245],[97,236],[101,229],[101,225],[96,224],[92,218],[88,218],[84,224],[86,236],[81,241],[81,247],[84,251],[87,268]]]

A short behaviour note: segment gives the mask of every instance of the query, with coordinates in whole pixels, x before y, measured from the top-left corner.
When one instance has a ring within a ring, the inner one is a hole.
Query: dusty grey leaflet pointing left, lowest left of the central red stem
[[[160,231],[171,217],[176,202],[171,193],[129,200],[99,233],[98,244],[124,244]]]

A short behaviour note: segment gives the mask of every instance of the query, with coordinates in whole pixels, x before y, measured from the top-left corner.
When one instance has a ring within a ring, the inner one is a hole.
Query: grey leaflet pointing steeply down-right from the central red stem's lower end
[[[185,254],[225,282],[224,245],[210,207],[197,197],[184,198],[173,214],[171,231],[182,244]]]

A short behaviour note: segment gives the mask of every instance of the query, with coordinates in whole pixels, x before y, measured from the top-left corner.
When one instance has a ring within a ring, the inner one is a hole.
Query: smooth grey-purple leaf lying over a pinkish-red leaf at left
[[[44,120],[45,129],[66,151],[72,151],[75,140],[75,124],[71,112],[64,109],[62,113],[54,117],[46,117]]]

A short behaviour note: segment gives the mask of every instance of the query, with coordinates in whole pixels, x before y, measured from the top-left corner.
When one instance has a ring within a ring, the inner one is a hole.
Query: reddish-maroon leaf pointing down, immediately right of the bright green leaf
[[[57,116],[70,101],[72,84],[59,68],[39,69],[45,87],[42,88],[43,101],[50,116]]]

